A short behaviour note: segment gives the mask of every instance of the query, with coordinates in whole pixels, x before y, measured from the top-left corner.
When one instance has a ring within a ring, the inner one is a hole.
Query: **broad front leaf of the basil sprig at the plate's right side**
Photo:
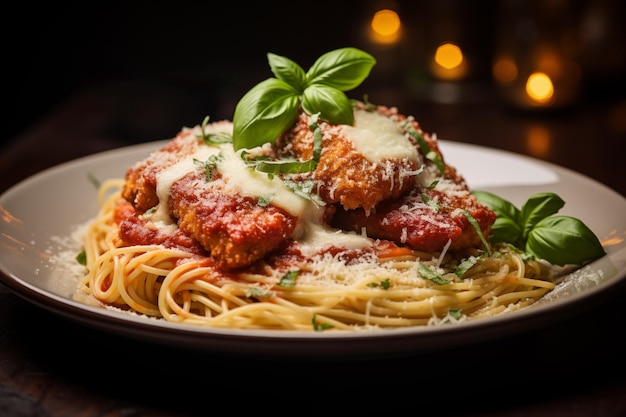
[[[595,234],[580,220],[550,216],[528,233],[526,252],[556,265],[582,265],[606,254]]]

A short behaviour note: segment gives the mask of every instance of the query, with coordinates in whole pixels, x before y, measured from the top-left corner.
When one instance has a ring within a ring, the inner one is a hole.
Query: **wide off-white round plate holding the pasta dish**
[[[24,299],[54,313],[125,336],[205,350],[280,356],[389,355],[476,342],[562,319],[588,297],[626,276],[626,199],[573,171],[525,156],[441,141],[447,162],[473,189],[494,192],[516,205],[531,194],[552,191],[566,205],[560,214],[585,222],[607,256],[570,274],[535,305],[498,317],[438,327],[357,333],[299,333],[193,327],[85,305],[71,299],[77,278],[56,261],[68,236],[97,211],[88,180],[122,177],[126,168],[165,142],[102,152],[50,168],[0,196],[0,274]],[[573,249],[575,250],[575,249]],[[557,314],[558,313],[558,314]]]

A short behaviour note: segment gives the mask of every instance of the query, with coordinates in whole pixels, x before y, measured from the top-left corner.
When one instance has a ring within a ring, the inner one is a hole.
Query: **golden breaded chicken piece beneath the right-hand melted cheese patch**
[[[302,178],[316,181],[316,192],[326,203],[369,212],[379,202],[400,197],[413,188],[420,167],[417,149],[410,146],[391,116],[378,117],[379,113],[382,110],[356,110],[354,127],[319,122],[320,160],[317,168]],[[314,136],[309,121],[310,116],[300,112],[294,127],[277,140],[279,156],[311,158]],[[374,146],[367,137],[372,135],[376,136]]]

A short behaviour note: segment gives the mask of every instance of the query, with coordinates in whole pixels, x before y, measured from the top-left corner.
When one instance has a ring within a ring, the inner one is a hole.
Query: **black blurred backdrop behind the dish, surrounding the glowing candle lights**
[[[539,5],[551,3],[560,5],[560,15],[537,20],[541,27],[566,21],[582,32],[594,10],[606,19],[601,43],[580,41],[581,101],[623,98],[626,36],[620,18],[626,13],[616,0],[21,2],[4,13],[3,137],[18,136],[77,92],[98,88],[132,91],[126,105],[134,118],[148,113],[146,107],[161,111],[141,123],[120,120],[125,140],[169,137],[205,115],[231,118],[236,100],[271,76],[267,52],[307,69],[320,54],[343,46],[363,48],[379,60],[353,97],[367,92],[372,101],[404,105],[419,119],[429,101],[422,87],[432,81],[425,54],[441,28],[454,25],[468,45],[474,63],[469,78],[479,85],[471,94],[496,100],[494,48],[503,30],[514,30],[497,22],[507,25],[503,14],[538,13]],[[394,47],[373,45],[363,35],[372,12],[383,6],[403,19],[404,38]]]

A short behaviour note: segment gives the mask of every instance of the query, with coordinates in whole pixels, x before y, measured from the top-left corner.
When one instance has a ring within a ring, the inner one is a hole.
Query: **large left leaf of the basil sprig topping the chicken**
[[[295,123],[298,117],[298,101],[298,93],[277,78],[268,78],[253,87],[235,107],[235,151],[274,142]]]

